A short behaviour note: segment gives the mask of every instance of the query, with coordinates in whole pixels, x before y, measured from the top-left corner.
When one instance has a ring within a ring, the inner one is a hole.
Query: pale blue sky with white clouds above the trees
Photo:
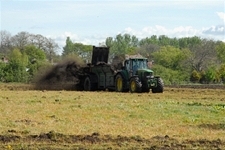
[[[98,46],[128,33],[225,42],[225,0],[0,0],[0,30]]]

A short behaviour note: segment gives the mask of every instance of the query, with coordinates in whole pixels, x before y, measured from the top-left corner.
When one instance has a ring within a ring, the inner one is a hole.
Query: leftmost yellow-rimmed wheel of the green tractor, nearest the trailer
[[[116,79],[115,79],[116,92],[128,92],[128,90],[126,90],[125,87],[126,87],[125,79],[122,77],[121,74],[116,75]]]

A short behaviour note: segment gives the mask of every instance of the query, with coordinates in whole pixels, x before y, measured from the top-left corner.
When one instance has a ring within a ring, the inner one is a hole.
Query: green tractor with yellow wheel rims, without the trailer
[[[115,91],[141,93],[162,93],[163,80],[153,76],[153,71],[148,69],[147,58],[128,58],[124,61],[121,70],[115,75]]]

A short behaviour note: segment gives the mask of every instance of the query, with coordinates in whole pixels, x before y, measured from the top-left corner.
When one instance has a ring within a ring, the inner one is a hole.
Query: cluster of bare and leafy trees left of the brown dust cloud
[[[59,58],[59,46],[51,38],[28,32],[12,36],[7,31],[0,36],[0,82],[28,83],[42,66]]]

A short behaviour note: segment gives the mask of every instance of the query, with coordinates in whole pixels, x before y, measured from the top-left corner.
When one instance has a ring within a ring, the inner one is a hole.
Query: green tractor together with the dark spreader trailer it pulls
[[[92,61],[81,69],[79,88],[84,91],[163,92],[163,80],[148,69],[148,60],[130,57],[119,70],[108,64],[109,48],[93,46]]]

